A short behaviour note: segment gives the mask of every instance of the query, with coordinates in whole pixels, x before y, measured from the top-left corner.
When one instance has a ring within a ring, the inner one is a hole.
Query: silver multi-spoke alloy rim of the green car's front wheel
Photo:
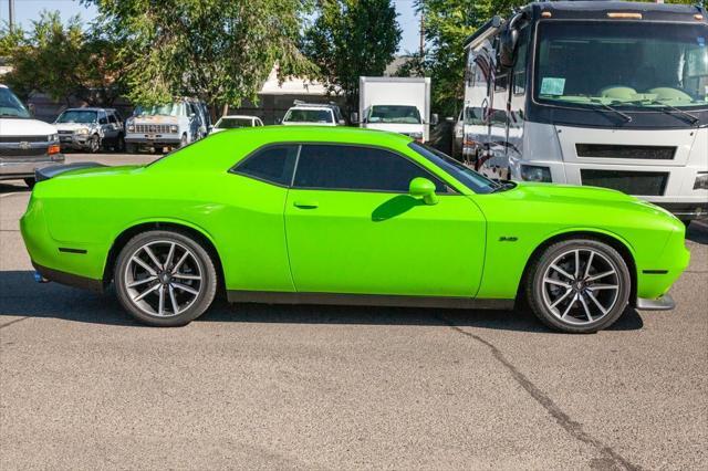
[[[620,297],[613,261],[594,249],[563,252],[543,273],[543,304],[564,323],[586,325],[604,318]]]

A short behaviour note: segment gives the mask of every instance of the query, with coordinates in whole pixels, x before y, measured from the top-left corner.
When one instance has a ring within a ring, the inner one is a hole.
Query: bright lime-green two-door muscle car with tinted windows
[[[685,227],[618,191],[497,182],[409,137],[233,129],[147,166],[40,170],[22,236],[40,280],[184,325],[230,302],[512,308],[552,328],[666,310]]]

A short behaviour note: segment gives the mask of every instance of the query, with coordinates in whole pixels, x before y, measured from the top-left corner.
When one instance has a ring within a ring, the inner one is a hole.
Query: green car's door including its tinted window
[[[428,178],[437,205],[408,195]],[[301,146],[285,203],[288,253],[299,292],[472,297],[485,218],[466,196],[392,150]]]

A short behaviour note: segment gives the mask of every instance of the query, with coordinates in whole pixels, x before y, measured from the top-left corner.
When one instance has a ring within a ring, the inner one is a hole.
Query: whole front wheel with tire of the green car
[[[527,297],[548,326],[593,333],[612,325],[629,300],[632,279],[624,259],[593,239],[554,243],[533,262]]]

